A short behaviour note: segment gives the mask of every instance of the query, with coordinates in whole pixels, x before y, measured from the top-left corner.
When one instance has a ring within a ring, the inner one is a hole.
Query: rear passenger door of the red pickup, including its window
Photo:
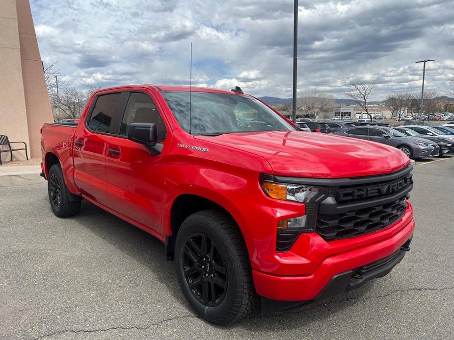
[[[121,93],[95,97],[74,135],[74,181],[82,194],[104,205],[107,143],[121,100]]]

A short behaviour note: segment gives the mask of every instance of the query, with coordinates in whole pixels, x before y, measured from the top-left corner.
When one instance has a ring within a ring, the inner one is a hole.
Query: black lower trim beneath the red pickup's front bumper
[[[398,251],[371,264],[334,275],[328,284],[312,300],[279,301],[261,296],[262,312],[264,314],[273,314],[289,311],[333,295],[351,291],[363,286],[369,280],[383,277],[402,261],[405,253],[410,250],[410,243],[411,239],[405,242]]]

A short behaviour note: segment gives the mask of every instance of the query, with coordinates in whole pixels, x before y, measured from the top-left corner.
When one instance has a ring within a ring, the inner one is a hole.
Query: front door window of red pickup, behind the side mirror
[[[158,140],[165,138],[165,127],[153,100],[144,93],[132,93],[121,122],[120,135],[127,136],[131,123],[155,123]]]

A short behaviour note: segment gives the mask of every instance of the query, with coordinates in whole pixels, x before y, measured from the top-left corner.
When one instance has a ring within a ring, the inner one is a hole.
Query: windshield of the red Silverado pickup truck
[[[219,135],[251,131],[295,131],[295,128],[260,101],[235,94],[163,91],[162,96],[180,126],[191,134]]]

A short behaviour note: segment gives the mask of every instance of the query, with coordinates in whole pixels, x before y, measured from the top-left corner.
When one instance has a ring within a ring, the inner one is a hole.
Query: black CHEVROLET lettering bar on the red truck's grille
[[[342,189],[337,192],[337,201],[345,202],[355,199],[365,199],[376,196],[383,196],[393,194],[401,191],[411,181],[411,176],[403,177],[400,180],[392,183],[385,183],[381,185],[374,185],[364,188]]]

